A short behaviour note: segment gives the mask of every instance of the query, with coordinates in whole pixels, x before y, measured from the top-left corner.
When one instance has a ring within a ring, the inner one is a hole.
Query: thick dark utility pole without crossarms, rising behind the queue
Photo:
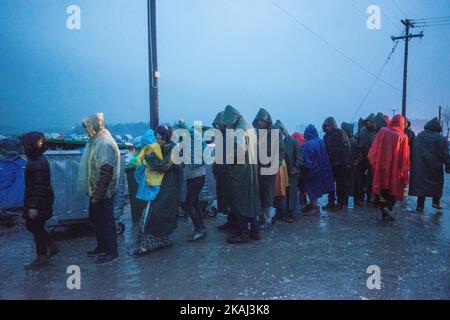
[[[148,21],[148,71],[150,84],[150,128],[155,130],[159,125],[158,106],[158,52],[156,46],[156,0],[147,0]]]

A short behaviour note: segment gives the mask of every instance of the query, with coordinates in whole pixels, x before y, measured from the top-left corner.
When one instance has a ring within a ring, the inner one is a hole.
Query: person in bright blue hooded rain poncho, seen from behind
[[[326,193],[334,192],[333,172],[331,171],[325,143],[319,138],[316,128],[310,124],[304,133],[303,145],[303,177],[305,191],[310,204],[303,212],[320,212],[317,199]]]

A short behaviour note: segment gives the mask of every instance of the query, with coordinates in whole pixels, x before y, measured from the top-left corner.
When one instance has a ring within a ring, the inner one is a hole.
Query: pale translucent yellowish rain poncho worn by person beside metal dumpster
[[[100,178],[100,168],[110,165],[114,168],[112,180],[106,192],[106,198],[112,197],[118,187],[120,175],[120,151],[117,143],[105,129],[103,113],[94,114],[83,121],[90,135],[81,156],[78,170],[78,189],[92,196]]]

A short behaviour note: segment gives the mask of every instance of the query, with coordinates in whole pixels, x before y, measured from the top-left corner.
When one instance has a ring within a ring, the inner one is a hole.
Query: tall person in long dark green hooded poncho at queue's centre
[[[223,114],[223,125],[227,129],[240,132],[250,130],[242,115],[232,106],[227,106]],[[231,214],[238,220],[238,232],[227,239],[229,243],[247,243],[250,239],[259,240],[256,224],[261,213],[261,202],[258,188],[258,165],[254,154],[250,152],[250,140],[235,138],[233,150],[226,153],[227,190],[230,192]],[[244,163],[238,163],[237,154],[244,155]],[[231,155],[234,153],[234,156]],[[230,163],[232,162],[232,163]]]

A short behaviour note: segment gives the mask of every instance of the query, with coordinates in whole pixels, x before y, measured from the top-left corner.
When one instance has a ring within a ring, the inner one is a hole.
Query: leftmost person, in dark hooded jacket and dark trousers
[[[48,263],[58,253],[56,242],[45,230],[45,224],[53,215],[54,194],[51,186],[50,165],[43,155],[45,137],[41,132],[29,132],[21,137],[27,165],[25,168],[25,196],[23,217],[25,226],[33,234],[36,259],[26,269],[36,269]]]

